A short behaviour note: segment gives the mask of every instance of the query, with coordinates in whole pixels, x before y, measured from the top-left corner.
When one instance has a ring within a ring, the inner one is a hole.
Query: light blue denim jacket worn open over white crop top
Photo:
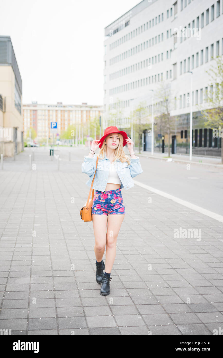
[[[82,173],[86,173],[90,176],[90,179],[88,180],[88,182],[86,182],[86,185],[88,185],[88,187],[91,186],[92,180],[94,178],[96,159],[97,159],[96,154],[94,154],[93,158],[89,158],[88,156],[85,155],[84,162],[82,163],[81,166]],[[131,160],[130,165],[127,162],[122,163],[118,159],[114,162],[114,167],[122,182],[120,188],[121,189],[125,188],[125,190],[134,187],[132,178],[143,172],[141,164],[139,162],[139,157],[136,157],[134,159],[130,158],[130,160]],[[111,166],[111,162],[106,157],[106,154],[104,156],[104,159],[98,158],[98,165],[93,182],[93,189],[99,190],[100,192],[105,191],[106,184],[108,181],[110,166]]]

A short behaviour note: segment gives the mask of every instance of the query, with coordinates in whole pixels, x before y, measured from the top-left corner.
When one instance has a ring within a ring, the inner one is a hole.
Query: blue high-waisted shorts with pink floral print
[[[122,190],[120,188],[115,190],[107,190],[105,192],[95,190],[91,214],[125,214]]]

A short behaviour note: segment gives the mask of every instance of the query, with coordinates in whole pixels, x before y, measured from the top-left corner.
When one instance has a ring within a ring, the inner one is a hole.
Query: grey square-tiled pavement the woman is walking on
[[[79,215],[89,192],[81,173],[88,151],[59,153],[59,171],[43,148],[35,151],[36,169],[29,170],[26,149],[0,170],[0,329],[19,335],[222,329],[223,223],[136,185],[123,189],[126,214],[110,295],[103,297],[93,225]],[[201,238],[181,237],[194,228]]]

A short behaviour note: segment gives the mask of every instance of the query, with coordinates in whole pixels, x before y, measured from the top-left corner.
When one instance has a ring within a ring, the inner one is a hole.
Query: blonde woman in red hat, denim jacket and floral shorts
[[[130,158],[123,150],[126,144]],[[93,182],[95,194],[91,214],[95,236],[96,282],[101,283],[100,294],[104,296],[110,293],[109,285],[112,279],[110,273],[115,261],[117,237],[125,216],[121,189],[128,190],[134,187],[132,178],[143,172],[139,157],[136,157],[133,151],[133,144],[125,132],[119,131],[115,126],[108,127],[99,141],[93,140],[90,153],[88,156],[85,155],[81,168],[82,173],[90,176],[86,183],[90,187],[98,156]],[[100,151],[99,155],[96,155],[95,151],[98,147]]]

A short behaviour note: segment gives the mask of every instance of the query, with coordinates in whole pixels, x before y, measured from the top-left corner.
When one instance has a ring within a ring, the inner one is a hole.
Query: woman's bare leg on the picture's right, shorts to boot
[[[105,272],[110,274],[112,271],[112,266],[115,261],[116,255],[116,243],[118,238],[118,233],[122,222],[124,220],[125,214],[112,214],[108,215],[108,229],[107,229],[107,240],[106,240],[106,261],[105,261]]]

